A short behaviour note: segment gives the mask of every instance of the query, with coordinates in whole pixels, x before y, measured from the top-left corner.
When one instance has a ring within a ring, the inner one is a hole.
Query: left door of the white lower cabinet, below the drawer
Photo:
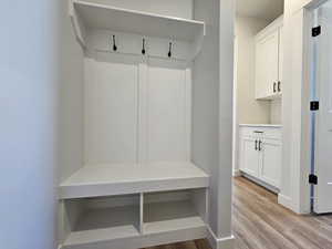
[[[240,169],[251,176],[259,176],[259,153],[257,151],[257,141],[252,137],[241,138]]]

